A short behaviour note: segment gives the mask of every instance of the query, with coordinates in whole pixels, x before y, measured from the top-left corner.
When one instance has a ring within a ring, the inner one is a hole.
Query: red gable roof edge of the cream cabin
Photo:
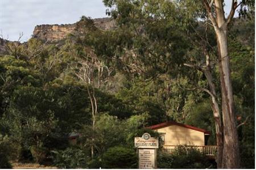
[[[204,129],[201,129],[201,128],[196,128],[196,127],[191,126],[191,125],[180,124],[180,123],[173,122],[173,121],[164,122],[164,123],[162,123],[162,124],[157,124],[157,125],[152,125],[152,126],[149,126],[149,127],[147,127],[147,128],[148,128],[148,129],[152,129],[152,130],[156,130],[156,129],[166,128],[166,127],[171,126],[171,125],[182,126],[182,127],[184,127],[184,128],[188,128],[188,129],[193,129],[193,130],[201,131],[201,132],[203,132],[203,133],[205,133],[205,134],[210,134],[210,132],[207,131],[207,130],[204,130]]]

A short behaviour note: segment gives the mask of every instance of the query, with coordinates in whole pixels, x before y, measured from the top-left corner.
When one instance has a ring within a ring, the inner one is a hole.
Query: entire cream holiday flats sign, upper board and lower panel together
[[[134,145],[138,148],[139,169],[156,168],[156,149],[159,148],[158,138],[152,138],[144,133],[142,137],[134,138]]]

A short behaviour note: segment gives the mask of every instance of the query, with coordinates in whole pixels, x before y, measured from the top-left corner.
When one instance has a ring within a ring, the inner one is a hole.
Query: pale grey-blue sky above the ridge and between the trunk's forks
[[[231,0],[226,0],[230,10]],[[82,15],[104,18],[106,7],[102,0],[0,0],[0,35],[16,41],[30,39],[36,25],[71,24]]]

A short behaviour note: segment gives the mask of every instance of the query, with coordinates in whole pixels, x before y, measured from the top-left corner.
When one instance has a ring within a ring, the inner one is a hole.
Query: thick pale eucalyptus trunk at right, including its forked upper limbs
[[[213,5],[214,2],[214,5]],[[222,99],[222,122],[223,122],[223,152],[220,168],[240,168],[240,152],[238,147],[238,136],[236,119],[234,113],[234,101],[232,82],[230,78],[229,56],[228,56],[228,23],[234,16],[237,2],[232,1],[232,10],[225,18],[222,0],[203,0],[210,21],[213,24],[218,44],[218,59],[221,82]]]

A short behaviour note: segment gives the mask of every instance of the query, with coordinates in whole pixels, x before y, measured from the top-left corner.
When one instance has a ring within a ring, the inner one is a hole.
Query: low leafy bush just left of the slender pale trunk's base
[[[58,168],[88,168],[89,157],[80,148],[69,147],[63,151],[53,151],[53,163]]]

